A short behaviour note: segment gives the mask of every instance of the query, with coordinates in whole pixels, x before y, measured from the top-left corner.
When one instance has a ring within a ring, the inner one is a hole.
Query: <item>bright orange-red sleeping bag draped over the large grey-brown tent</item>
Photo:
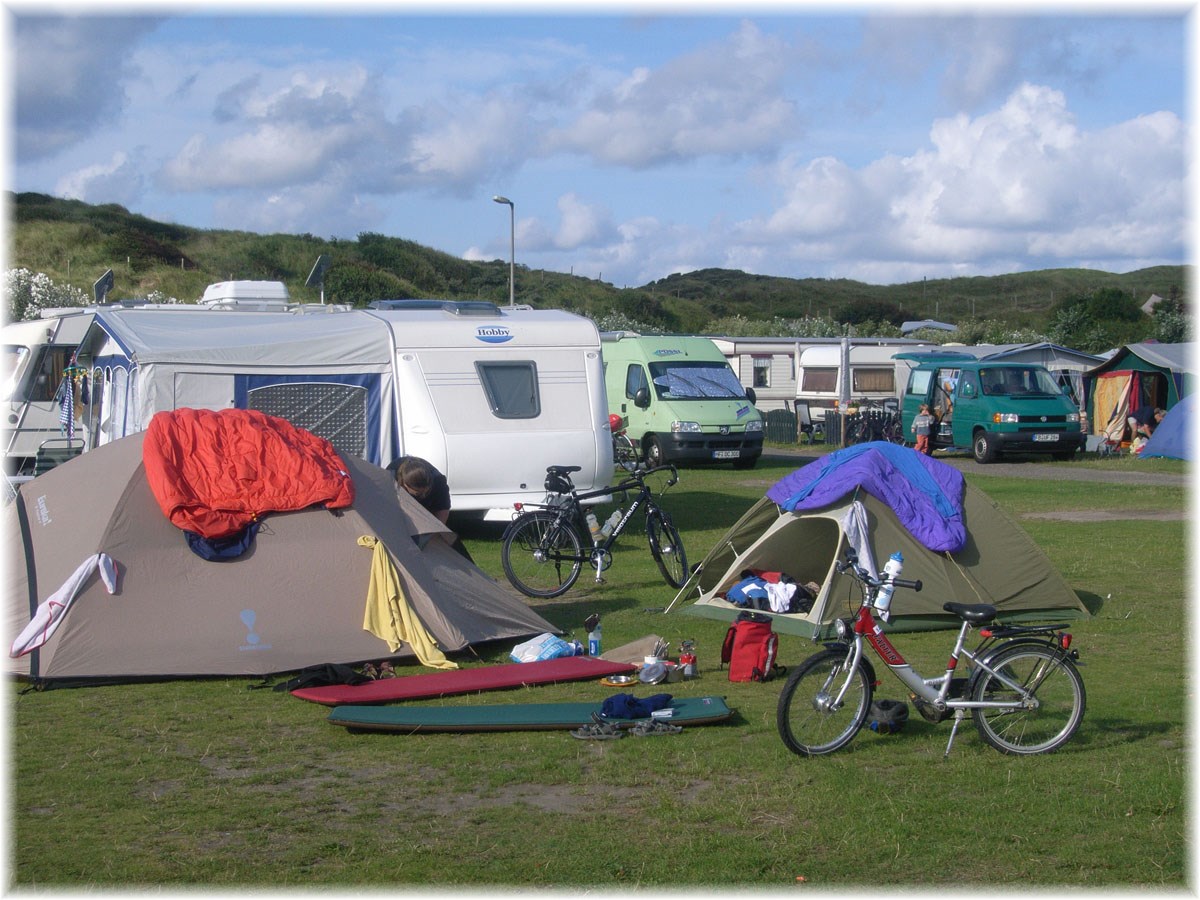
[[[235,534],[268,512],[354,503],[332,444],[253,409],[156,413],[142,461],[167,518],[203,538]]]

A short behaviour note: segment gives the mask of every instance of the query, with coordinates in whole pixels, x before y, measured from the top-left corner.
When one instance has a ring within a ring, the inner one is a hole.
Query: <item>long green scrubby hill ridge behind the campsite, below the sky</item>
[[[10,193],[7,200],[13,223],[8,266],[44,272],[56,284],[70,284],[88,296],[96,278],[112,269],[113,299],[157,293],[194,301],[212,282],[257,278],[283,281],[296,300],[316,301],[317,289],[305,287],[305,281],[317,257],[325,253],[331,260],[326,302],[361,306],[407,296],[508,302],[508,260],[467,262],[401,238],[364,233],[352,241],[204,230],[155,222],[115,204],[90,205],[38,193]],[[616,288],[518,265],[516,298],[598,322],[616,319],[661,331],[712,332],[715,324],[728,325],[734,317],[762,323],[822,318],[841,326],[896,326],[926,318],[954,324],[998,320],[1013,331],[1038,331],[1049,328],[1064,300],[1096,292],[1123,292],[1138,306],[1152,294],[1186,301],[1188,275],[1182,265],[1124,275],[1050,269],[876,286],[704,269],[638,288]],[[1150,328],[1148,317],[1140,326]],[[758,330],[763,329],[769,326]]]

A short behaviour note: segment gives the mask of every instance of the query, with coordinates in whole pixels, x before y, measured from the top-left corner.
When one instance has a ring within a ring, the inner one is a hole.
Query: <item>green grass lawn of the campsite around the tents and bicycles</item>
[[[664,505],[690,562],[793,464],[684,470]],[[949,722],[916,715],[900,734],[864,731],[826,758],[790,754],[775,732],[779,683],[731,684],[719,668],[725,624],[655,612],[674,592],[630,534],[605,584],[584,574],[539,611],[580,638],[583,619],[600,613],[606,648],[648,634],[674,648],[694,638],[700,677],[670,690],[726,697],[738,709],[731,722],[617,742],[566,732],[352,734],[329,725],[324,707],[251,690],[256,679],[16,686],[11,883],[1187,888],[1187,491],[967,475],[1072,587],[1109,598],[1072,629],[1088,706],[1057,754],[1002,756],[966,722],[943,761]],[[1055,516],[1078,510],[1112,517]],[[499,528],[462,530],[481,568],[503,580]],[[948,641],[944,632],[896,638],[928,673],[944,666]],[[506,661],[509,649],[480,648],[480,660],[462,661]],[[793,665],[814,647],[782,636],[780,649]],[[877,696],[905,697],[882,668],[881,677]],[[431,702],[608,692],[576,683]]]

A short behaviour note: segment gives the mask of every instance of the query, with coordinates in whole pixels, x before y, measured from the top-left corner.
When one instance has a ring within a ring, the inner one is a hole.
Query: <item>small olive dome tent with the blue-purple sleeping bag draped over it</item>
[[[941,496],[934,499],[931,490]],[[860,600],[834,565],[853,545],[872,568],[899,551],[904,577],[923,583],[919,593],[895,593],[889,631],[956,628],[942,610],[949,600],[994,604],[1012,623],[1091,614],[1028,534],[956,469],[880,442],[833,452],[773,486],[694,571],[680,596],[698,596],[683,608],[732,620],[740,610],[724,595],[746,570],[784,572],[820,589],[806,612],[768,612],[775,630],[830,637],[834,622]]]

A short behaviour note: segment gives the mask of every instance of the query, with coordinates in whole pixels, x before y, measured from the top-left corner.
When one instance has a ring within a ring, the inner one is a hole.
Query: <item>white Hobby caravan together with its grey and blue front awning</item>
[[[143,431],[163,409],[241,408],[288,419],[342,454],[386,466],[421,456],[457,512],[509,517],[545,497],[551,464],[607,484],[600,336],[557,310],[389,301],[298,316],[190,307],[96,313],[80,347],[91,374],[89,446]]]

